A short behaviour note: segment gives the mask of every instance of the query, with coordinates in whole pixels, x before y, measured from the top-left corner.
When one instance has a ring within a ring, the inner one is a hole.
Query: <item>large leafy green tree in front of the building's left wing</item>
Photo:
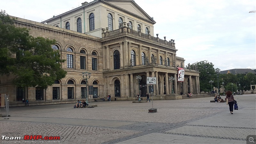
[[[32,37],[26,28],[14,26],[5,11],[0,12],[0,74],[16,75],[13,83],[20,87],[47,88],[66,76],[61,68],[55,40]]]

